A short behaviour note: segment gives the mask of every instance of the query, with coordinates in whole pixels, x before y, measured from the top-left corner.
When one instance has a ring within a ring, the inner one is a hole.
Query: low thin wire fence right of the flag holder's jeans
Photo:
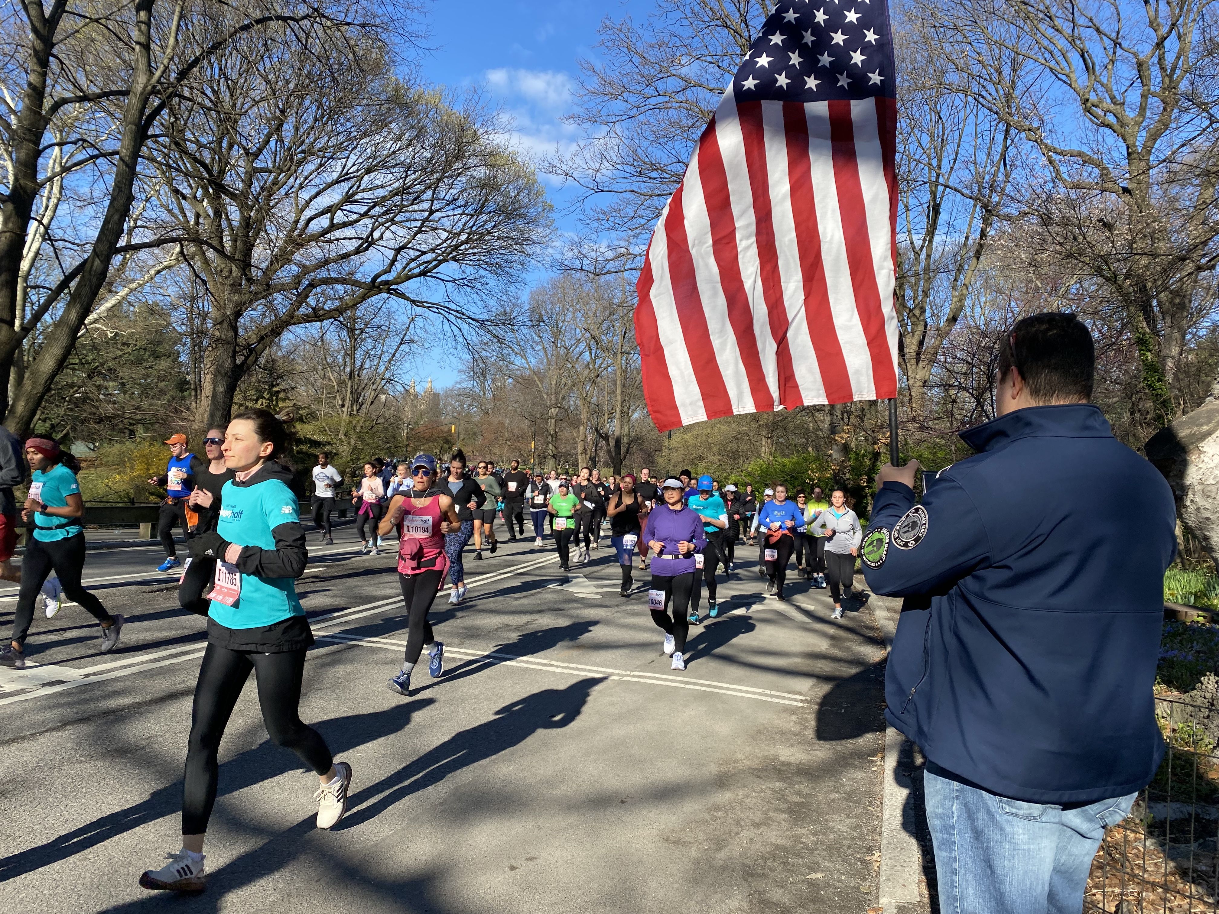
[[[1157,698],[1168,741],[1156,779],[1108,829],[1092,862],[1085,912],[1219,914],[1219,754],[1212,708]],[[1208,730],[1209,734],[1208,735]]]

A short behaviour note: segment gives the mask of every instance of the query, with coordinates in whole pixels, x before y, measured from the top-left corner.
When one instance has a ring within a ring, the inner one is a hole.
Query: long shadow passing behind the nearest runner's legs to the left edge
[[[323,720],[313,726],[322,734],[330,751],[338,757],[358,746],[399,732],[411,723],[411,717],[414,713],[432,703],[430,698],[417,700],[368,714],[350,714]],[[185,745],[182,748],[185,753]],[[300,759],[293,752],[266,740],[221,765],[218,796],[235,793],[280,774],[300,769]],[[0,882],[67,859],[140,825],[172,815],[180,809],[182,781],[178,780],[154,791],[147,799],[135,806],[94,819],[91,823],[38,847],[9,857],[0,857]]]

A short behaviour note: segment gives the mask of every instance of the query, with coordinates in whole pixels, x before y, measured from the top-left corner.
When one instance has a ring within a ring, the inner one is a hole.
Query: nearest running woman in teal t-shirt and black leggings
[[[305,653],[313,643],[294,581],[308,551],[291,470],[275,462],[286,444],[283,423],[266,409],[234,418],[224,431],[224,464],[234,476],[221,490],[216,530],[189,544],[193,558],[216,558],[207,613],[207,650],[199,668],[182,787],[182,849],[140,876],[145,888],[199,892],[206,885],[204,837],[218,776],[217,752],[229,715],[254,670],[271,739],[286,746],[321,781],[317,826],[329,829],[347,808],[351,765],[334,762],[322,736],[297,713]]]

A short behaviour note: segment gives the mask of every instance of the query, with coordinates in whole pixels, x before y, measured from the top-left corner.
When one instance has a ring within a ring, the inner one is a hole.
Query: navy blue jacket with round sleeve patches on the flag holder
[[[1152,686],[1176,551],[1168,483],[1089,405],[1017,409],[961,438],[979,453],[920,506],[881,486],[861,548],[868,585],[907,597],[885,717],[1000,796],[1132,793],[1164,753]]]

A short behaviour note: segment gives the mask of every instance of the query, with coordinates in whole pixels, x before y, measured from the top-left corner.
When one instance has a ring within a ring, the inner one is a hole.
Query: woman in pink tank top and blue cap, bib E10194
[[[406,602],[406,657],[402,669],[389,680],[388,687],[399,695],[411,693],[411,670],[428,645],[428,671],[433,679],[444,673],[445,646],[432,635],[428,612],[436,591],[444,583],[449,559],[445,557],[445,534],[461,528],[453,500],[447,492],[433,489],[436,479],[436,458],[421,453],[411,461],[413,487],[395,495],[380,522],[378,533],[384,536],[397,528],[397,578]]]

